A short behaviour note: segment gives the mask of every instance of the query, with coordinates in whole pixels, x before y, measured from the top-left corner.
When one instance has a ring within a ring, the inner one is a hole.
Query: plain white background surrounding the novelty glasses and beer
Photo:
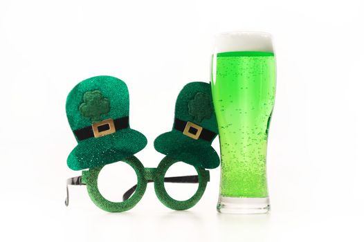
[[[363,241],[363,12],[361,0],[1,1],[0,240]],[[271,214],[217,214],[219,169],[185,212],[152,185],[129,212],[98,209],[85,187],[66,208],[64,180],[80,174],[66,166],[73,86],[127,82],[131,127],[148,138],[136,156],[156,167],[153,140],[171,129],[176,95],[209,81],[213,35],[228,30],[274,37]]]

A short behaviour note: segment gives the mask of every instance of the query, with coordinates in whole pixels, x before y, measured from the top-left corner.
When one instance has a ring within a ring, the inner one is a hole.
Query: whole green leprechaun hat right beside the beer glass
[[[212,169],[220,164],[211,147],[217,133],[210,84],[191,82],[177,97],[172,131],[158,136],[154,148],[190,165]]]

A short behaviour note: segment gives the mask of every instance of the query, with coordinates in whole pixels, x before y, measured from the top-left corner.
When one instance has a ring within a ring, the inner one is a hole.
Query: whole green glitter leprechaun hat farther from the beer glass
[[[66,113],[78,141],[67,159],[73,170],[120,161],[147,145],[147,138],[129,127],[129,92],[118,78],[80,82],[67,97]]]

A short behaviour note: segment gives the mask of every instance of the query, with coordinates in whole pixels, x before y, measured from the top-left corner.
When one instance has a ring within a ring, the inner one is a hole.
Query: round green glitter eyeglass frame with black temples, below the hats
[[[138,184],[131,187],[123,196],[122,202],[111,202],[104,198],[98,189],[98,175],[104,167],[95,167],[89,170],[82,171],[82,176],[70,178],[67,180],[67,197],[66,205],[69,205],[69,189],[68,185],[86,185],[87,192],[91,201],[102,210],[107,212],[125,212],[133,208],[143,197],[147,183],[154,182],[154,190],[159,201],[166,207],[172,210],[188,210],[196,205],[205,192],[208,181],[210,181],[210,172],[202,167],[194,166],[197,171],[197,176],[177,176],[165,178],[167,170],[174,163],[181,160],[176,160],[171,156],[165,156],[156,168],[144,167],[142,162],[136,156],[130,156],[122,160],[122,162],[130,165],[136,172]],[[165,183],[199,183],[196,193],[185,201],[178,201],[172,198],[165,189]]]

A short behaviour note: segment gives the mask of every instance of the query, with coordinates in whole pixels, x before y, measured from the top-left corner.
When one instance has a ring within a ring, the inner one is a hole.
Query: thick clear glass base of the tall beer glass
[[[232,198],[219,196],[217,203],[217,211],[224,214],[266,214],[269,210],[269,197]]]

